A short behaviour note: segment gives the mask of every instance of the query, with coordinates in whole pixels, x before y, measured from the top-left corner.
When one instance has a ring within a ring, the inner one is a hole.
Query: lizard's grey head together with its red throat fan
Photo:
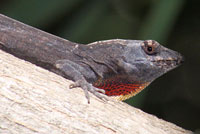
[[[183,62],[183,57],[178,52],[153,40],[108,40],[103,44],[112,48],[108,54],[112,55],[111,63],[116,66],[104,64],[115,73],[108,73],[93,85],[104,89],[106,95],[117,100],[125,100],[136,95],[153,80]],[[109,50],[104,48],[103,51],[105,49]],[[102,54],[107,54],[103,51]]]

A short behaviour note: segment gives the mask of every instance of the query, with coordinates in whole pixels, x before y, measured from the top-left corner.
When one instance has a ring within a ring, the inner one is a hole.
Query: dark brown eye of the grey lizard
[[[146,40],[143,42],[143,50],[145,51],[146,54],[148,55],[154,55],[156,54],[156,47],[157,44],[155,41],[152,40]]]

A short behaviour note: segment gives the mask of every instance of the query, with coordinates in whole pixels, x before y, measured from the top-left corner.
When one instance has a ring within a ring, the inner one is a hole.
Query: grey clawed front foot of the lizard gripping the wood
[[[85,80],[78,80],[74,84],[71,84],[69,86],[70,89],[75,88],[75,87],[81,87],[83,89],[85,93],[85,97],[88,100],[88,103],[90,103],[90,96],[88,92],[94,94],[97,98],[101,100],[106,100],[106,101],[108,100],[105,96],[102,95],[102,94],[105,94],[105,90],[96,88]]]

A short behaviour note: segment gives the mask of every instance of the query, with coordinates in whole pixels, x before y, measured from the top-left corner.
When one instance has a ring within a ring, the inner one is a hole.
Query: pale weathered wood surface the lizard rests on
[[[102,102],[31,63],[0,51],[1,134],[189,134],[123,102]]]

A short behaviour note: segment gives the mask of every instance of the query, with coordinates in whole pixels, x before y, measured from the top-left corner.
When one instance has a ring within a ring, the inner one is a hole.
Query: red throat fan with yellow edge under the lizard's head
[[[108,79],[99,79],[93,86],[104,89],[105,94],[116,100],[123,101],[147,87],[150,82],[141,82],[135,80],[129,80],[128,78],[112,77]]]

